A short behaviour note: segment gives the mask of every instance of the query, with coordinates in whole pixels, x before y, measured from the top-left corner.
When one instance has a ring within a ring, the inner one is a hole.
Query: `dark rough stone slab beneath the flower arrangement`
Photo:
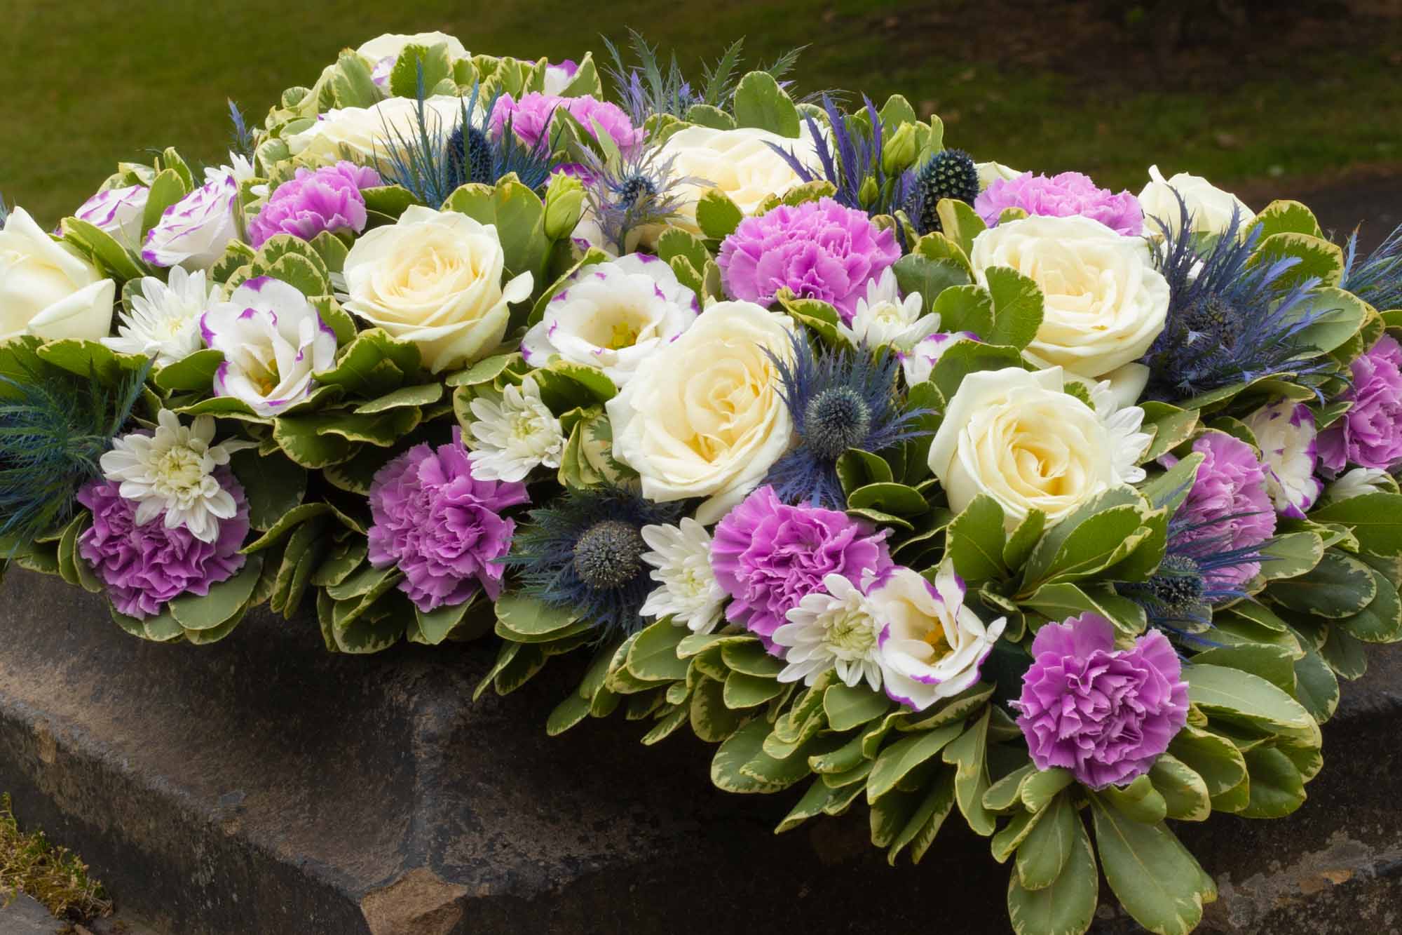
[[[801,789],[722,793],[694,738],[547,737],[568,663],[474,705],[489,640],[331,656],[255,614],[158,646],[57,578],[0,595],[0,789],[167,932],[1008,931],[1007,868],[958,821],[893,869],[861,809],[775,837]],[[1300,813],[1179,825],[1223,890],[1209,931],[1402,931],[1402,653],[1345,698]],[[1136,929],[1105,898],[1096,931]]]

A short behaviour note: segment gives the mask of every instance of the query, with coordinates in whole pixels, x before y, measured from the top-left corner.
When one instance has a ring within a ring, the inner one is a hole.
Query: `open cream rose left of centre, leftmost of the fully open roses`
[[[531,274],[503,286],[503,265],[495,225],[414,205],[350,247],[345,307],[418,344],[423,366],[437,373],[492,351],[510,303],[530,298]]]

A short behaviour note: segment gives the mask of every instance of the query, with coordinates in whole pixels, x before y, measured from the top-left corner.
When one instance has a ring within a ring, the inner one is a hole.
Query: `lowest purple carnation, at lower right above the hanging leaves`
[[[1018,727],[1037,769],[1061,767],[1092,789],[1144,775],[1187,723],[1187,682],[1158,630],[1115,649],[1098,614],[1047,623],[1032,640]]]

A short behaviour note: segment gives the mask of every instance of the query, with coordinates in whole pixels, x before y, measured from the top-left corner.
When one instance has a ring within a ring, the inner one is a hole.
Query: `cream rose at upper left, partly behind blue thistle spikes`
[[[423,101],[429,132],[449,135],[463,114],[463,98],[435,95]],[[306,163],[334,163],[342,157],[391,168],[390,147],[419,138],[419,102],[390,97],[374,107],[332,108],[315,124],[287,138],[287,150]]]

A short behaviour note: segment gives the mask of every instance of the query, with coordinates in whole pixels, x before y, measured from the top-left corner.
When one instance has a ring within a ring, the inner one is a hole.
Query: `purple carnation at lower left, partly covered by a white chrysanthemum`
[[[248,501],[234,476],[219,469],[215,477],[237,507],[219,522],[213,542],[200,542],[185,526],[167,528],[164,515],[136,524],[136,501],[118,493],[119,484],[93,480],[79,491],[79,503],[93,511],[93,525],[79,536],[79,553],[107,584],[118,611],[146,619],[182,594],[209,594],[244,567],[238,549],[248,535]]]

